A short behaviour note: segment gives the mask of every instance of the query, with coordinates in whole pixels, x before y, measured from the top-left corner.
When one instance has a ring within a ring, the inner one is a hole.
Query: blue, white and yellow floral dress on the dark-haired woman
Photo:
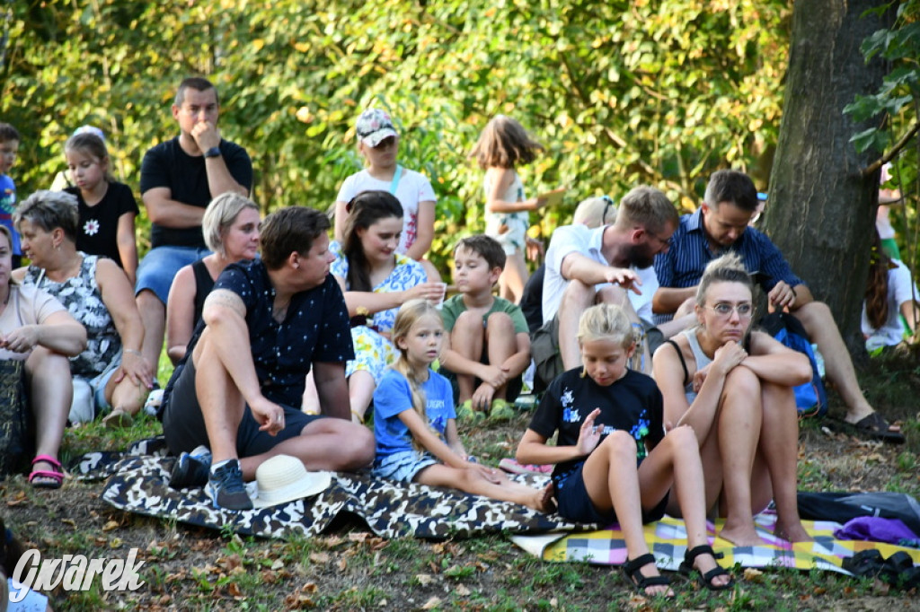
[[[329,271],[345,281],[345,290],[349,290],[348,260],[341,253],[339,243],[329,244],[329,250],[336,255],[336,260],[329,266]],[[406,255],[395,255],[397,265],[389,276],[374,287],[374,293],[388,291],[405,291],[427,282],[428,276],[419,262]],[[351,342],[354,344],[355,358],[345,366],[345,376],[349,377],[358,370],[370,372],[374,382],[379,383],[384,369],[397,358],[396,346],[380,332],[388,334],[396,322],[398,308],[374,312],[366,325],[351,328]]]

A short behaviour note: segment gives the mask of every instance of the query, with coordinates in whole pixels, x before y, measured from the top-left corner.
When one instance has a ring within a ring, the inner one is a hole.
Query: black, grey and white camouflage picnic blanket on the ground
[[[385,538],[469,538],[480,534],[572,531],[579,526],[523,505],[421,484],[375,479],[370,472],[335,473],[332,485],[315,497],[268,508],[214,508],[203,489],[169,488],[174,457],[162,437],[132,444],[125,452],[93,452],[71,471],[85,480],[107,479],[101,499],[125,512],[157,516],[200,527],[231,528],[241,535],[289,538],[313,536],[338,518],[358,517]],[[534,486],[546,477],[516,477]],[[334,527],[334,526],[333,526]]]

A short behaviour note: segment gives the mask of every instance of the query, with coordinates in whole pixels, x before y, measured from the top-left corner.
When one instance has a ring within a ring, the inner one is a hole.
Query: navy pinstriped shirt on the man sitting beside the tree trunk
[[[789,287],[804,285],[805,281],[797,277],[789,267],[786,258],[770,242],[764,233],[749,227],[730,246],[713,251],[703,228],[703,211],[681,217],[680,225],[671,238],[671,248],[667,253],[655,256],[655,274],[661,287],[686,289],[696,287],[707,264],[713,259],[729,252],[741,255],[754,282],[769,292],[780,280]],[[671,315],[656,315],[657,323],[669,321]]]

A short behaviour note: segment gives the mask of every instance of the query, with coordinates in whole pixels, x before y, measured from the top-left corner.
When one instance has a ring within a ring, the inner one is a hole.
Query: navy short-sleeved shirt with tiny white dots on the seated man
[[[331,274],[314,289],[295,293],[282,323],[271,317],[275,289],[260,259],[224,269],[214,289],[233,291],[246,305],[246,323],[256,376],[271,402],[299,406],[314,361],[344,363],[354,358],[345,298]],[[190,356],[205,323],[189,345]]]

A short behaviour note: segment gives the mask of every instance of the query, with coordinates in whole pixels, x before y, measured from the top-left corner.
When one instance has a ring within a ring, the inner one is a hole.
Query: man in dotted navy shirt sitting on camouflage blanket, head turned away
[[[167,444],[182,453],[173,486],[206,478],[215,504],[248,509],[243,480],[274,455],[307,470],[357,470],[374,459],[373,434],[351,423],[345,362],[354,351],[329,274],[328,227],[316,210],[278,210],[262,223],[262,258],[228,266],[214,284],[164,398]],[[322,415],[300,410],[311,367]],[[201,445],[213,457],[203,478],[188,456]]]

